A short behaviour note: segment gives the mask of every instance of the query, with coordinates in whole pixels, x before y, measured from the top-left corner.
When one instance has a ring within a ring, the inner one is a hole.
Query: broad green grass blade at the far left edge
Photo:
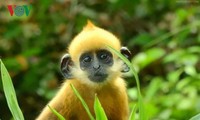
[[[15,120],[24,120],[24,116],[17,102],[15,89],[13,87],[10,75],[1,59],[0,59],[0,63],[1,63],[1,78],[2,78],[2,83],[3,83],[3,90],[5,92],[8,107]]]

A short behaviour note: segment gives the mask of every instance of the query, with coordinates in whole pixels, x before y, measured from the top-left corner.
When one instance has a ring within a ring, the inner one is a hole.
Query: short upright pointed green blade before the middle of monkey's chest
[[[95,115],[96,115],[96,120],[108,120],[106,113],[105,113],[103,107],[101,106],[101,103],[100,103],[97,95],[95,95],[94,111],[95,111]]]

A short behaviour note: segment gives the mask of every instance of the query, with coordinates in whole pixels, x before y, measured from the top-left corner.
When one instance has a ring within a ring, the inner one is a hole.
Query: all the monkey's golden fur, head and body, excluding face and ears
[[[94,26],[88,22],[83,31],[78,34],[69,46],[69,54],[74,61],[72,74],[74,79],[66,80],[57,95],[48,103],[56,109],[66,120],[89,120],[81,102],[72,91],[73,84],[80,95],[86,101],[90,111],[94,114],[94,97],[97,94],[108,120],[128,119],[128,98],[126,94],[126,83],[121,78],[122,61],[114,56],[114,64],[109,68],[109,77],[102,83],[95,83],[87,78],[87,75],[79,67],[79,56],[85,51],[96,49],[107,49],[110,45],[120,50],[119,40],[111,33]],[[56,120],[57,117],[45,107],[37,120]]]

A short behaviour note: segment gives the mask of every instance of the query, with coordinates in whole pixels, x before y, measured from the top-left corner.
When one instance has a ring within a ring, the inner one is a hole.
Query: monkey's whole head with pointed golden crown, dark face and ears
[[[128,66],[107,45],[130,58],[129,50],[121,47],[117,37],[88,21],[69,45],[69,53],[61,59],[64,77],[83,83],[101,84],[114,80],[121,72],[128,72]]]

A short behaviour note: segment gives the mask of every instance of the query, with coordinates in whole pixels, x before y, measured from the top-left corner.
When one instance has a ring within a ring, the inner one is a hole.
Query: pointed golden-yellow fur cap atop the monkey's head
[[[79,56],[85,51],[107,49],[110,45],[120,50],[120,41],[112,33],[93,25],[90,21],[84,29],[72,40],[68,51],[74,62],[78,62]]]

